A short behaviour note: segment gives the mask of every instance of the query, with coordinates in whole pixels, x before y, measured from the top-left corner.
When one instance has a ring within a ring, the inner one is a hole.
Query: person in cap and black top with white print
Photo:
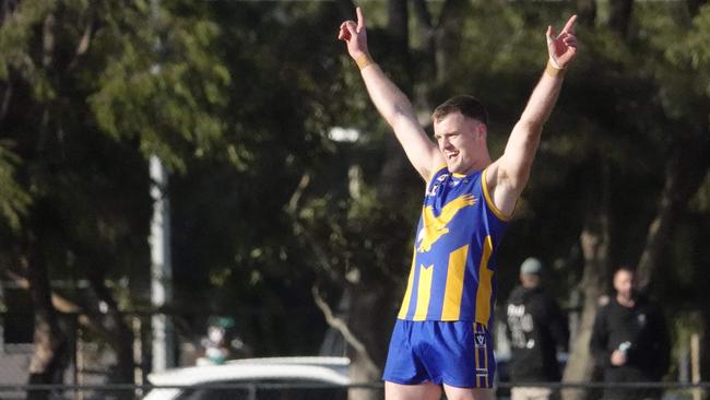
[[[507,331],[510,338],[512,383],[544,383],[560,379],[557,349],[567,349],[569,329],[555,299],[541,285],[543,266],[528,258],[520,266],[520,282],[508,298]],[[513,387],[511,400],[546,400],[553,390]]]

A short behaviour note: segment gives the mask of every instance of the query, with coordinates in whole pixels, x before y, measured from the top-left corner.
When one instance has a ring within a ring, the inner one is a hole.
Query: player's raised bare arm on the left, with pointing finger
[[[343,22],[338,38],[347,44],[347,52],[357,62],[375,107],[392,127],[414,168],[427,180],[433,169],[445,163],[443,156],[422,129],[404,93],[372,61],[367,49],[365,17],[359,7],[356,13],[357,24],[354,21]]]

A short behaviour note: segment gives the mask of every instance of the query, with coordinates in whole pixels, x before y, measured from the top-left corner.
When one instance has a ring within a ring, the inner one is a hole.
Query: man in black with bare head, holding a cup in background
[[[659,381],[665,374],[671,340],[663,313],[635,290],[634,271],[620,268],[614,274],[616,296],[602,306],[594,320],[590,350],[606,383]],[[605,400],[658,399],[649,388],[604,391]]]

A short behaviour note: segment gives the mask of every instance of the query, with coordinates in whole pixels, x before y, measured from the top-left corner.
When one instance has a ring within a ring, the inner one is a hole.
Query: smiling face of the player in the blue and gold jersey
[[[485,146],[486,127],[475,119],[452,113],[434,121],[434,138],[449,172],[469,174]]]

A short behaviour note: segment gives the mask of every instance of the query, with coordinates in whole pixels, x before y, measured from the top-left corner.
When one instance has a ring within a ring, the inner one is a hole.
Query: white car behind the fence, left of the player
[[[167,388],[143,400],[345,400],[348,367],[346,357],[268,357],[174,368],[149,375]]]

